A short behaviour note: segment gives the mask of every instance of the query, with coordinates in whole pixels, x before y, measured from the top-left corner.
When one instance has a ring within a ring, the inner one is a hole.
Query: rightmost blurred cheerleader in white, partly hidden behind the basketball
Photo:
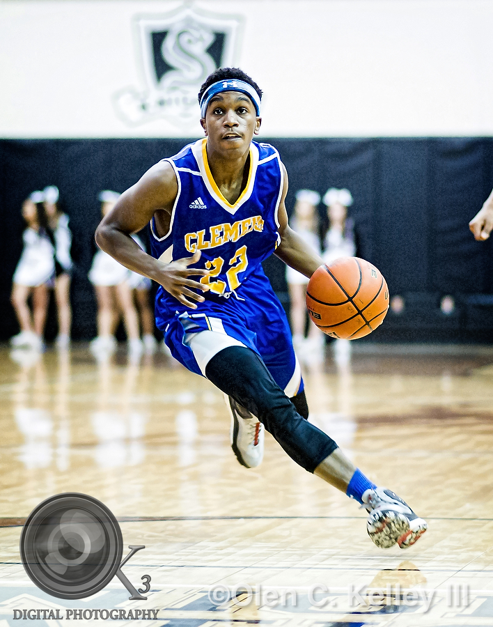
[[[352,195],[348,189],[327,189],[322,199],[327,207],[329,229],[324,237],[322,258],[327,265],[340,257],[353,257],[356,254],[354,222],[347,217],[347,208],[352,205]],[[347,364],[351,345],[349,340],[337,339],[334,353],[338,365]]]

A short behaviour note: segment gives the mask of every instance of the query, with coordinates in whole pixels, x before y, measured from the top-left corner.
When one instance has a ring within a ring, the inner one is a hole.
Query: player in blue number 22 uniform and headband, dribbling
[[[311,277],[322,259],[288,226],[288,176],[279,153],[252,141],[261,97],[242,70],[213,72],[198,94],[205,139],[127,189],[96,241],[159,284],[157,327],[173,357],[228,396],[240,463],[260,463],[266,428],[305,470],[363,504],[376,545],[407,548],[426,522],[393,492],[377,488],[307,420],[288,321],[260,262],[275,251]],[[148,222],[151,255],[130,237]]]

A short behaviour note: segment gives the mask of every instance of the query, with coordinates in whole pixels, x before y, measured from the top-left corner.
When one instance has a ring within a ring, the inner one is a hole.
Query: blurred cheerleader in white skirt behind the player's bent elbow
[[[120,194],[109,189],[100,193],[102,215],[114,207]],[[97,355],[112,353],[116,348],[114,336],[120,311],[127,332],[128,346],[132,355],[140,355],[143,346],[139,337],[139,318],[134,306],[132,288],[129,285],[130,270],[113,257],[98,250],[88,278],[93,284],[97,299],[97,337],[91,342],[91,350]]]

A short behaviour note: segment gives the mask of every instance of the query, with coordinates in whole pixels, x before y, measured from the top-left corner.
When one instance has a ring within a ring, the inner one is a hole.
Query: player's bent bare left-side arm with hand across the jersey
[[[164,222],[171,219],[171,210],[178,194],[178,183],[171,165],[160,162],[120,196],[114,208],[102,219],[95,233],[100,249],[114,257],[129,270],[157,281],[182,304],[196,309],[194,301],[203,296],[192,290],[208,291],[208,286],[189,277],[210,274],[208,270],[189,268],[197,263],[201,252],[193,256],[164,263],[148,255],[130,237],[143,229],[156,212]]]

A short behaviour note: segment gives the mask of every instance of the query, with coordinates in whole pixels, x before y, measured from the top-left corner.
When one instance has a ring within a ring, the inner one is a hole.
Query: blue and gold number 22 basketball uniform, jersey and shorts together
[[[185,335],[211,330],[240,341],[260,355],[288,396],[303,389],[288,319],[261,262],[279,245],[277,212],[283,191],[279,153],[269,144],[250,147],[250,170],[240,198],[229,203],[219,191],[207,159],[207,139],[167,159],[178,180],[169,233],[162,238],[150,222],[152,256],[171,261],[198,249],[197,268],[212,270],[201,281],[210,291],[190,309],[162,286],[156,294],[156,325],[171,354],[192,372],[204,374]],[[194,277],[191,277],[192,279]]]

